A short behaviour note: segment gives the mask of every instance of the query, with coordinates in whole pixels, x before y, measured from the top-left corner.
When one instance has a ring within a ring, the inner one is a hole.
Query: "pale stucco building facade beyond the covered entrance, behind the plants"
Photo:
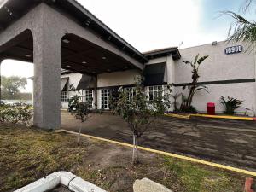
[[[241,45],[241,53],[226,55],[227,47]],[[191,79],[191,67],[183,63],[184,60],[193,61],[195,55],[209,55],[200,67],[200,83],[207,86],[209,93],[198,91],[193,100],[193,106],[199,112],[206,112],[207,102],[216,104],[217,113],[222,113],[224,107],[220,104],[220,96],[231,96],[243,101],[241,108],[236,113],[244,113],[246,108],[256,108],[256,61],[253,52],[247,51],[247,45],[242,42],[227,43],[218,42],[217,45],[204,44],[187,49],[179,49],[181,58],[173,60],[172,55],[151,59],[147,65],[166,63],[164,82],[173,85],[173,94],[181,93],[183,84],[189,84]],[[118,73],[104,73],[97,76],[97,103],[101,108],[101,90],[111,89],[120,85],[134,84],[134,77],[140,74],[137,70],[123,71]],[[148,88],[147,88],[148,90]],[[184,91],[185,96],[189,93],[188,86]],[[181,103],[181,97],[178,99]],[[170,109],[172,110],[172,108]]]

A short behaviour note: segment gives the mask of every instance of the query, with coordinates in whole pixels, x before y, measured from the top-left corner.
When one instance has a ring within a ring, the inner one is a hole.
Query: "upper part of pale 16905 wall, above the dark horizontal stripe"
[[[175,83],[188,83],[191,81],[191,68],[183,63],[184,60],[193,61],[195,55],[209,55],[200,67],[200,81],[216,81],[229,79],[253,79],[255,78],[255,62],[253,53],[245,52],[233,55],[225,55],[224,49],[232,45],[246,45],[242,43],[228,44],[218,42],[212,44],[180,49],[182,58],[175,61]]]

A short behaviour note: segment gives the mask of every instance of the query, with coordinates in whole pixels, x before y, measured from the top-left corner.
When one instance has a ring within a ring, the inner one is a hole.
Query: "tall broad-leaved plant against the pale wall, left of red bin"
[[[195,96],[196,91],[198,90],[207,90],[207,86],[197,84],[199,76],[199,67],[201,63],[207,59],[207,56],[199,57],[199,54],[195,56],[194,61],[183,61],[183,63],[190,65],[192,67],[192,83],[189,85],[189,96],[186,101],[183,103],[183,111],[189,111],[191,104],[193,102],[193,97]]]

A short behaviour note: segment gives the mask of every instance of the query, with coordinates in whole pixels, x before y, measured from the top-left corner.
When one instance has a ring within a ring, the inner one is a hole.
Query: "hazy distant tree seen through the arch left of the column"
[[[16,93],[20,92],[20,89],[25,89],[27,80],[26,78],[20,78],[18,76],[1,77],[3,90],[9,93],[12,98]]]

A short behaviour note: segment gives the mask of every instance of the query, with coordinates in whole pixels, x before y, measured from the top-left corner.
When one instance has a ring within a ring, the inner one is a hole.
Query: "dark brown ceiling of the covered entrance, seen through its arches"
[[[22,32],[2,47],[4,58],[33,62],[33,41],[30,31]],[[0,50],[1,52],[1,50]],[[114,55],[83,38],[68,34],[61,40],[61,68],[78,73],[112,73],[136,68],[122,57]]]

